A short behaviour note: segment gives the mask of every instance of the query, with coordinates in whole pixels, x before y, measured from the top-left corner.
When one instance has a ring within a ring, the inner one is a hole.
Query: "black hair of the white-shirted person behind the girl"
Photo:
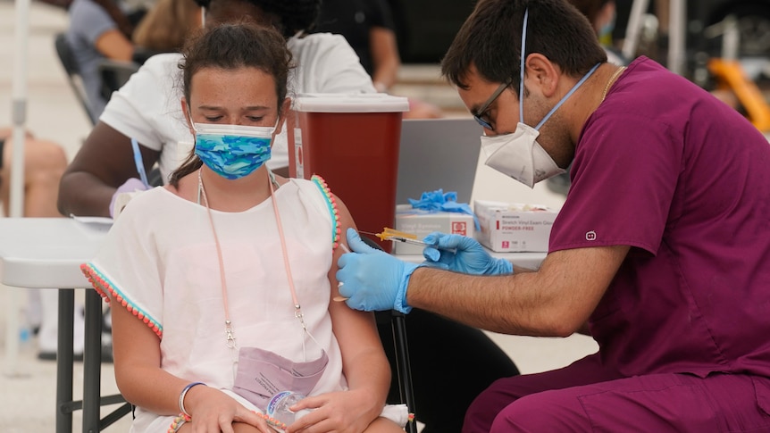
[[[276,20],[265,21],[271,22],[286,38],[295,36],[298,32],[309,33],[321,10],[321,0],[195,0],[195,2],[205,7],[207,11],[215,8],[226,9],[227,4],[233,2],[253,4],[262,12],[276,18]]]

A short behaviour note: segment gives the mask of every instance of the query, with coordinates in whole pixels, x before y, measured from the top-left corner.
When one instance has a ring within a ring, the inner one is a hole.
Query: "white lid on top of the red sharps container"
[[[305,93],[294,101],[297,112],[408,112],[409,100],[384,93]]]

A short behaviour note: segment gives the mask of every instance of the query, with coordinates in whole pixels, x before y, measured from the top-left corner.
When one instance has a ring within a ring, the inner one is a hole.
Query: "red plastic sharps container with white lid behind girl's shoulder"
[[[406,97],[386,94],[299,95],[287,122],[289,175],[320,175],[358,229],[394,227],[401,117],[408,110]],[[380,245],[390,252],[391,242]]]

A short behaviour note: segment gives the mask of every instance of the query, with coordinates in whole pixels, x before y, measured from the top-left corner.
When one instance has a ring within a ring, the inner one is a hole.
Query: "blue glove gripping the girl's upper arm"
[[[337,265],[339,295],[356,310],[398,310],[407,313],[406,287],[409,277],[422,264],[407,263],[364,244],[356,230],[347,229],[347,246],[353,253],[342,254]]]

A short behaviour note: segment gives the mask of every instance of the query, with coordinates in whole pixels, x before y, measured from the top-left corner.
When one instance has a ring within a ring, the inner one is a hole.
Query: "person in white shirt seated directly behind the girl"
[[[297,61],[289,79],[295,93],[373,93],[372,79],[344,37],[306,35],[318,15],[320,0],[200,0],[205,26],[244,18],[280,29]],[[131,139],[138,142],[144,170],[157,162],[163,183],[190,148],[179,96],[180,54],[148,59],[116,92],[96,127],[64,172],[59,209],[77,215],[109,216],[115,197],[146,188],[138,180]],[[171,114],[169,116],[168,114]],[[271,169],[288,174],[287,136],[275,143]]]

